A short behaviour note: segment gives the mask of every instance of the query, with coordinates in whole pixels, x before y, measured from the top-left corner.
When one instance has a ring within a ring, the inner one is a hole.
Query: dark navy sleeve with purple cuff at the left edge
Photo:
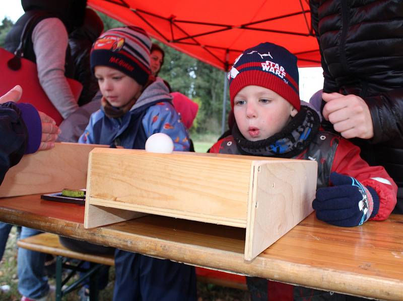
[[[41,136],[41,120],[33,106],[12,102],[0,105],[0,184],[24,154],[38,150]]]

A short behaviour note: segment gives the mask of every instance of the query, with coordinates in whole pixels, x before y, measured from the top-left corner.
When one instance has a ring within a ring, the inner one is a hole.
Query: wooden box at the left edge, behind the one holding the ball
[[[0,197],[86,187],[88,154],[95,144],[55,143],[54,148],[23,156],[9,169],[0,186]]]

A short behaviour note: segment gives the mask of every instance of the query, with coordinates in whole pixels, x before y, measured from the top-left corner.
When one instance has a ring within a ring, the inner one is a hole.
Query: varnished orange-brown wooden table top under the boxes
[[[310,215],[252,261],[245,229],[149,215],[84,229],[84,206],[0,199],[0,221],[155,257],[348,294],[403,299],[403,215],[341,228]]]

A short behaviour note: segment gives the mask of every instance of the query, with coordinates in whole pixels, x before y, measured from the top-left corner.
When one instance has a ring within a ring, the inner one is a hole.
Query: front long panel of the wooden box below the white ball
[[[245,228],[251,161],[183,153],[94,150],[87,202]]]

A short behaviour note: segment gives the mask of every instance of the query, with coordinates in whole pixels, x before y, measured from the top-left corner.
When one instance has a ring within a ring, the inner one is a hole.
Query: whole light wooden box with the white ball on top
[[[157,214],[246,228],[251,260],[312,212],[316,179],[308,160],[94,149],[84,226]]]

